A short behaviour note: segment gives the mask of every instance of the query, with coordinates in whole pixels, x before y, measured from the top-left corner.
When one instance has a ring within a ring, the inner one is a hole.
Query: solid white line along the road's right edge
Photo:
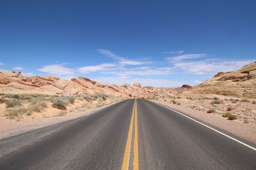
[[[247,145],[246,143],[243,143],[242,141],[239,141],[239,140],[237,140],[237,139],[235,139],[235,138],[232,138],[231,136],[228,136],[227,134],[225,134],[225,133],[223,133],[223,132],[220,132],[220,131],[218,131],[218,130],[212,128],[212,127],[209,127],[208,125],[205,125],[205,124],[203,124],[202,122],[199,122],[199,121],[197,121],[197,120],[195,120],[195,119],[193,119],[193,118],[191,118],[191,117],[188,117],[187,115],[184,115],[184,114],[180,113],[179,111],[173,110],[172,108],[169,108],[169,107],[167,107],[167,106],[164,106],[163,104],[156,103],[156,102],[154,102],[154,101],[150,101],[150,102],[155,103],[155,104],[158,104],[158,105],[160,105],[160,106],[163,106],[164,108],[167,108],[168,110],[175,111],[176,113],[179,113],[180,115],[182,115],[182,116],[184,116],[184,117],[186,117],[186,118],[189,118],[190,120],[193,120],[193,121],[195,121],[195,122],[198,123],[198,124],[201,124],[201,125],[204,125],[205,127],[208,127],[208,128],[211,129],[212,131],[218,132],[219,134],[222,134],[223,136],[226,136],[227,138],[232,139],[232,140],[234,140],[234,141],[236,141],[236,142],[238,142],[238,143],[240,143],[240,144],[242,144],[242,145],[244,145],[244,146],[247,146],[248,148],[251,148],[252,150],[256,151],[256,148],[254,148],[253,146]]]

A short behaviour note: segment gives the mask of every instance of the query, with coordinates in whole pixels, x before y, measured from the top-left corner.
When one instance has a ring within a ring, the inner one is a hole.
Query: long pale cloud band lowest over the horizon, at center
[[[153,87],[181,87],[183,84],[179,81],[171,81],[164,79],[154,79],[154,78],[129,78],[129,77],[99,77],[94,78],[102,83],[111,84],[115,83],[117,85],[123,85],[124,83],[141,83],[142,86],[153,86]]]

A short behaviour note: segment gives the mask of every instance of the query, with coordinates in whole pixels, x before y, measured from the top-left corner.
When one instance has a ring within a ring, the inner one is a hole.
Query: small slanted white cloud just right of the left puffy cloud
[[[115,64],[111,64],[111,63],[106,63],[106,64],[99,64],[96,66],[84,66],[84,67],[79,67],[78,71],[79,73],[92,73],[95,71],[105,71],[106,69],[109,69],[111,67],[115,67]]]

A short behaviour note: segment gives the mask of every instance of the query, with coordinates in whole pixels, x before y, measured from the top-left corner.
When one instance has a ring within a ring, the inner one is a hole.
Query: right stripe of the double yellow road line
[[[138,154],[138,118],[137,118],[137,101],[135,101],[135,125],[134,125],[134,157],[133,170],[139,169],[139,154]]]

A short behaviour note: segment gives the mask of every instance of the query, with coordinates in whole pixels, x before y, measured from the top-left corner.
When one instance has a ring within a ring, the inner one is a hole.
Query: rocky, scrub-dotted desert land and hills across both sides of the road
[[[256,62],[228,73],[220,72],[196,87],[104,85],[84,77],[23,76],[0,71],[1,122],[56,117],[97,108],[128,98],[177,104],[228,120],[256,125]]]

